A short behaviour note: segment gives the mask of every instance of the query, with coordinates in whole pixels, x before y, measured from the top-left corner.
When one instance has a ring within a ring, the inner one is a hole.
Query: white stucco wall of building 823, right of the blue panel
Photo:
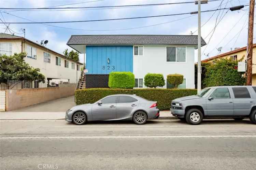
[[[161,73],[165,81],[168,74],[182,74],[186,79],[186,88],[195,88],[194,46],[186,46],[185,63],[166,62],[166,46],[143,46],[143,56],[133,56],[133,73],[135,78],[143,78],[143,88],[144,76],[147,73]],[[166,88],[166,84],[163,88]]]

